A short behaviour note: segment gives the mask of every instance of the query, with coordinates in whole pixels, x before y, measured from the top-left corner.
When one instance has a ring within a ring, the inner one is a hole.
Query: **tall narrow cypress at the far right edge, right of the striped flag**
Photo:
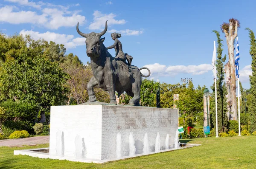
[[[249,31],[250,37],[250,55],[252,56],[252,70],[253,75],[250,76],[250,93],[252,95],[250,106],[248,107],[248,114],[250,120],[250,132],[256,131],[256,39],[253,31],[250,28],[246,28]]]

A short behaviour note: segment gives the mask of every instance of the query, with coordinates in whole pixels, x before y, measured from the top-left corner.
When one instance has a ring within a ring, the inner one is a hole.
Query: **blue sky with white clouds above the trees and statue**
[[[253,0],[0,0],[0,30],[6,35],[30,34],[62,43],[67,54],[79,56],[84,64],[85,38],[76,32],[103,30],[108,20],[105,46],[113,44],[111,32],[119,32],[123,51],[133,56],[139,68],[148,66],[149,79],[175,84],[181,78],[192,78],[197,85],[211,86],[213,41],[212,30],[233,17],[240,20],[240,81],[249,88],[251,56],[249,27],[256,31]],[[223,56],[227,54],[224,34]],[[114,49],[109,50],[114,56]],[[227,62],[227,61],[226,61]]]

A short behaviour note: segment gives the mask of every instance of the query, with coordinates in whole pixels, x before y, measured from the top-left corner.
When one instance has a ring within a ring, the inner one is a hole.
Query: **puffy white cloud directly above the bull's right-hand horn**
[[[108,20],[108,26],[116,24],[125,24],[125,20],[115,20],[116,14],[102,14],[100,11],[94,11],[93,23],[89,25],[90,30],[102,30],[105,28],[105,22]]]

